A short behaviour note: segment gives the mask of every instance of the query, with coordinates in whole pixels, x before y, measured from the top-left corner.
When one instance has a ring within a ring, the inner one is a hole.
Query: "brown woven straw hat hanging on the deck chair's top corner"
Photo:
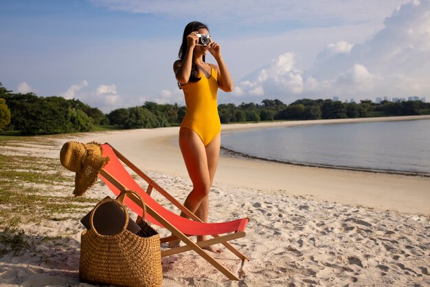
[[[60,162],[69,171],[76,172],[73,194],[84,194],[97,181],[98,173],[109,162],[109,156],[102,156],[103,149],[98,142],[66,142],[60,151]]]

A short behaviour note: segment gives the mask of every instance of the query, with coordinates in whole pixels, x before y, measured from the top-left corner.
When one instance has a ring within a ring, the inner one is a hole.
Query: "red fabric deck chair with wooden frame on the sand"
[[[172,197],[167,191],[161,188],[157,183],[152,181],[143,171],[138,169],[132,162],[127,160],[121,153],[111,147],[109,144],[102,145],[103,156],[109,156],[111,160],[106,164],[104,169],[100,172],[100,178],[106,183],[106,185],[115,193],[119,195],[122,190],[130,189],[139,193],[146,204],[146,217],[145,220],[152,224],[157,224],[161,227],[167,228],[172,236],[164,237],[161,239],[161,243],[169,242],[171,240],[182,240],[186,245],[170,248],[161,251],[161,257],[168,255],[174,255],[185,251],[194,250],[196,253],[201,255],[207,262],[210,262],[214,267],[220,270],[221,273],[226,275],[231,280],[239,280],[236,275],[231,273],[227,268],[218,263],[216,259],[203,251],[202,247],[210,246],[213,244],[223,244],[229,251],[239,257],[242,262],[248,260],[248,258],[240,253],[236,248],[228,243],[229,240],[236,238],[245,237],[245,226],[248,222],[248,218],[242,218],[230,222],[222,223],[204,223],[201,222],[199,217],[196,217],[191,211],[185,208],[180,202]],[[132,169],[138,176],[143,178],[147,183],[148,187],[146,191],[137,184],[132,178],[131,174],[125,169],[124,164]],[[172,204],[177,206],[183,211],[190,219],[181,217],[176,213],[172,213],[168,209],[161,206],[156,200],[150,197],[150,193],[155,189],[167,198]],[[137,215],[142,215],[142,208],[133,202],[133,197],[127,198],[124,203],[130,207]],[[222,236],[218,235],[222,234]],[[205,240],[203,242],[194,243],[188,236],[192,235],[212,235],[214,238],[211,240]]]

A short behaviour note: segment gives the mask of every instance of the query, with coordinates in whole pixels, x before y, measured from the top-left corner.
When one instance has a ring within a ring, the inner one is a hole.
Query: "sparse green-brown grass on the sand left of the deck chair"
[[[29,142],[36,146],[39,143],[40,146],[58,145],[45,137],[0,142],[0,227],[15,228],[27,222],[41,224],[44,220],[60,222],[78,219],[82,213],[87,213],[99,200],[60,196],[58,192],[58,196],[51,195],[53,187],[73,189],[73,175],[63,175],[64,168],[59,159],[43,155],[12,156],[1,152],[1,147],[25,147]]]

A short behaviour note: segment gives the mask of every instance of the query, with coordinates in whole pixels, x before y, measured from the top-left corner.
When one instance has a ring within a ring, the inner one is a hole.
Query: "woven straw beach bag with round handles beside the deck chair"
[[[139,222],[144,230],[137,235],[126,229],[129,217],[126,206],[122,204],[126,195],[139,198],[144,209]],[[107,201],[117,202],[126,213],[124,227],[115,235],[100,235],[93,225],[95,211]],[[145,213],[144,200],[135,191],[123,191],[116,200],[105,198],[94,207],[90,217],[91,228],[81,235],[80,281],[119,287],[161,286],[160,236],[144,221]]]

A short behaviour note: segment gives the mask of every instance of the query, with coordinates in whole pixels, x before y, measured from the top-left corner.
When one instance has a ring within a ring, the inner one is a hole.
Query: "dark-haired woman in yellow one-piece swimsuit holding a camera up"
[[[207,222],[209,191],[214,180],[220,152],[221,124],[218,116],[216,94],[218,87],[225,92],[233,90],[233,81],[221,55],[221,47],[209,38],[207,45],[199,44],[199,35],[209,35],[207,26],[191,22],[183,32],[179,60],[173,64],[178,85],[183,89],[187,114],[179,129],[179,147],[193,189],[185,199],[184,206]],[[216,63],[205,63],[205,55],[210,52]],[[181,213],[181,216],[185,216]],[[206,240],[198,236],[197,241]],[[170,246],[177,246],[179,241]],[[220,252],[212,246],[206,248]]]

